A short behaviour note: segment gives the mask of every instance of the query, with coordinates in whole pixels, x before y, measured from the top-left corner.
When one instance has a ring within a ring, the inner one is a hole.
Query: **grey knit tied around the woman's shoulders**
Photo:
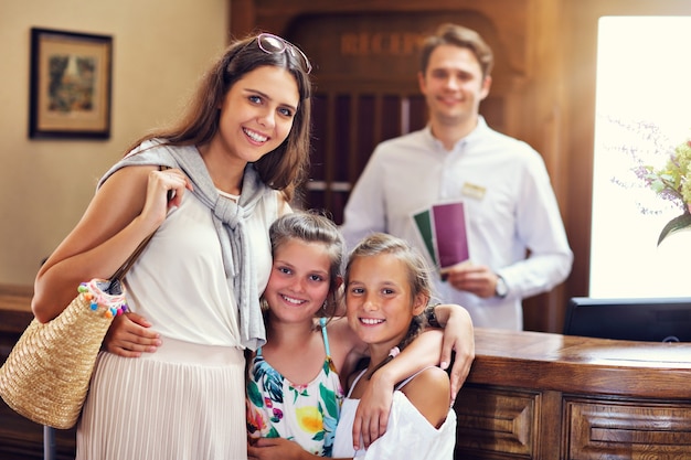
[[[265,343],[266,331],[259,308],[257,268],[251,253],[249,235],[245,225],[256,205],[275,193],[248,164],[243,178],[240,202],[223,199],[194,146],[164,146],[157,140],[143,142],[140,149],[117,162],[98,182],[100,186],[115,171],[127,165],[157,164],[180,168],[192,182],[192,193],[212,211],[221,243],[223,266],[231,291],[240,309],[240,334],[244,346],[256,350]],[[153,147],[158,145],[158,147]]]

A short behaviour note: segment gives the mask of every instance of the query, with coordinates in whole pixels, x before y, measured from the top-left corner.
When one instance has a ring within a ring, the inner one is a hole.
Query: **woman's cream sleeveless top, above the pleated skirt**
[[[257,204],[246,223],[258,292],[270,272],[268,227],[277,210],[276,194]],[[193,193],[184,194],[127,274],[128,303],[163,338],[240,347],[237,304],[225,278],[211,213]]]

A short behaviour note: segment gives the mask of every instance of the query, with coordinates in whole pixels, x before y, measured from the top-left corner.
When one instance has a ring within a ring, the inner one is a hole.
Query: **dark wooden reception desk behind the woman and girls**
[[[32,315],[0,286],[0,360]],[[476,329],[455,404],[457,459],[691,459],[691,343]],[[43,458],[42,427],[0,404],[0,458]],[[74,458],[74,430],[57,431]]]

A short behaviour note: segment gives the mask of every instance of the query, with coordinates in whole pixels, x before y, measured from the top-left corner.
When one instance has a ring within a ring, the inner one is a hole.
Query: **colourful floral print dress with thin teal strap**
[[[315,456],[331,457],[343,388],[331,360],[325,318],[320,325],[327,359],[312,382],[293,384],[264,360],[262,349],[249,361],[249,437],[290,439]]]

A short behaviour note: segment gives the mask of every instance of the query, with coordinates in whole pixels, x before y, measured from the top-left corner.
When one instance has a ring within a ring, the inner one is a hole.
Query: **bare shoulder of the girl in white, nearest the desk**
[[[435,428],[439,428],[448,415],[448,374],[439,367],[428,367],[408,382],[402,392],[417,410]]]

